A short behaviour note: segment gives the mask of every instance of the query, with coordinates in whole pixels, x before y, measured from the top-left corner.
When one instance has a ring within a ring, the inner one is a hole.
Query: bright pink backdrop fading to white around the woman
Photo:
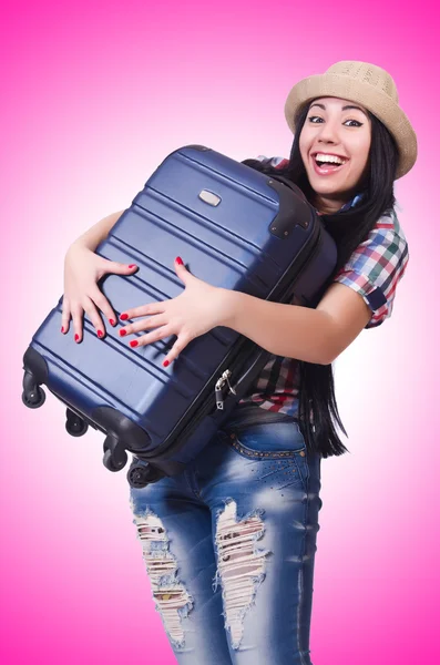
[[[436,662],[434,2],[21,0],[1,13],[2,662],[175,663],[126,468],[104,469],[100,433],[71,438],[51,393],[24,408],[22,355],[62,294],[68,245],[129,207],[168,152],[202,143],[237,160],[288,156],[291,85],[347,59],[390,71],[419,158],[396,184],[410,263],[393,315],[335,365],[350,454],[323,462],[311,657]]]

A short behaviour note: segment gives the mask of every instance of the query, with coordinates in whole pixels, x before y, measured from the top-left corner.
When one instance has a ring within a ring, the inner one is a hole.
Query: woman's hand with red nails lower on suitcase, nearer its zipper
[[[121,328],[121,336],[157,328],[133,339],[130,342],[131,347],[144,346],[170,335],[177,336],[177,340],[166,355],[164,367],[175,360],[192,339],[208,332],[216,326],[227,325],[232,316],[234,291],[212,286],[194,277],[178,256],[175,260],[175,269],[186,287],[180,296],[126,309],[120,317],[121,320],[127,320],[139,316],[156,315]]]

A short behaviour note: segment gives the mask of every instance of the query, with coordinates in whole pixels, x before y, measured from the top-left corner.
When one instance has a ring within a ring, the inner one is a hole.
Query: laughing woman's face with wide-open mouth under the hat
[[[316,193],[313,203],[319,212],[336,213],[356,194],[367,170],[370,145],[371,122],[365,106],[331,96],[311,102],[299,136],[299,151]],[[341,160],[319,165],[317,155],[323,160],[337,155]]]

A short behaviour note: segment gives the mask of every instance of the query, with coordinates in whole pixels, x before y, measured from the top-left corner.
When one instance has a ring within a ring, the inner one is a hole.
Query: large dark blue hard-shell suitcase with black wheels
[[[185,288],[174,258],[214,286],[277,303],[315,306],[336,266],[337,248],[301,191],[201,145],[171,153],[95,250],[136,263],[133,276],[99,286],[119,316]],[[66,430],[105,434],[104,466],[144,487],[181,473],[231,416],[269,352],[218,326],[162,367],[172,339],[127,347],[119,326],[103,339],[84,313],[83,339],[60,334],[62,297],[23,356],[23,403],[48,389],[66,406]],[[126,323],[124,321],[123,325]],[[142,332],[141,332],[142,335]]]

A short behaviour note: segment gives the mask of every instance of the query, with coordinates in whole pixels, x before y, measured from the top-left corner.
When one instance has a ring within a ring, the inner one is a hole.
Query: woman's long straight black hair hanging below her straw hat
[[[315,193],[310,187],[299,152],[299,135],[306,122],[310,103],[299,109],[297,113],[296,133],[287,166],[277,168],[258,160],[245,160],[244,164],[268,175],[279,174],[289,178],[313,202]],[[399,158],[398,147],[386,126],[372,113],[368,112],[368,115],[371,121],[371,145],[367,172],[364,181],[358,183],[358,193],[362,193],[364,196],[356,206],[348,211],[320,216],[326,231],[332,236],[338,248],[337,265],[326,282],[326,288],[349,259],[351,253],[366,239],[379,217],[390,214],[396,204],[393,182]],[[324,295],[324,290],[321,289],[320,297]],[[318,301],[310,306],[316,307]],[[347,452],[348,449],[339,439],[332,422],[335,418],[345,436],[348,436],[336,403],[331,364],[316,365],[303,360],[298,362],[300,377],[298,417],[307,447],[320,452],[324,458]],[[315,424],[314,431],[311,431],[310,409]]]

